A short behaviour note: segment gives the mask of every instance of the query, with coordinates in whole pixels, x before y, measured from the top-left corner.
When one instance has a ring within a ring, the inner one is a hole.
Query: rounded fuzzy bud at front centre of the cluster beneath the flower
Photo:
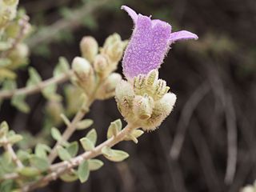
[[[144,96],[137,95],[134,98],[133,112],[136,117],[142,120],[149,119],[153,112],[154,100],[147,94]]]

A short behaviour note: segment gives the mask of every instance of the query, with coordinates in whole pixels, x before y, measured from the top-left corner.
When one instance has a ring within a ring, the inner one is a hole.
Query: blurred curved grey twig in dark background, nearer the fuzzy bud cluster
[[[182,150],[182,144],[186,134],[186,127],[190,123],[190,118],[198,106],[198,103],[209,91],[209,85],[204,82],[201,86],[198,86],[198,88],[194,90],[194,93],[187,100],[182,110],[181,118],[178,121],[177,134],[175,135],[173,145],[170,148],[170,158],[178,158],[180,151]]]

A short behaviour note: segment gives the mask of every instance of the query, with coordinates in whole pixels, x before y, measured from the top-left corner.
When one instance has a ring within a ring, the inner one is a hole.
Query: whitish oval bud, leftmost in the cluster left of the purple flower
[[[76,57],[72,62],[72,69],[74,70],[74,82],[86,92],[91,94],[94,90],[95,79],[94,70],[90,63],[85,58]]]

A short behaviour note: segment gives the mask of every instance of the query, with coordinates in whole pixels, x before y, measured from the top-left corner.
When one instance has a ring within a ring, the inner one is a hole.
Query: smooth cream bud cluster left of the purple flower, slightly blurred
[[[80,49],[82,57],[76,57],[72,63],[74,83],[84,90],[87,96],[94,94],[97,99],[114,96],[114,90],[122,77],[113,73],[122,58],[127,42],[118,34],[106,38],[103,47],[90,36],[82,38]]]

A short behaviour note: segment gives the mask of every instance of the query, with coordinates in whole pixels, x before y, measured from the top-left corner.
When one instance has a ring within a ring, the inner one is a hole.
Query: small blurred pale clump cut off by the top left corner
[[[0,1],[0,29],[16,16],[18,0]]]

